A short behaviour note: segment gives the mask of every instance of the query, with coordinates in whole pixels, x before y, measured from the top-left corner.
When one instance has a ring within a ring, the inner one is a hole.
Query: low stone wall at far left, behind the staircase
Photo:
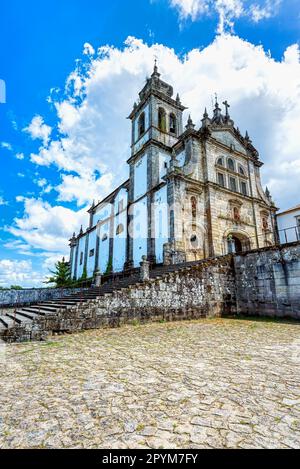
[[[0,310],[29,303],[55,300],[79,292],[79,288],[34,288],[26,290],[0,290]]]

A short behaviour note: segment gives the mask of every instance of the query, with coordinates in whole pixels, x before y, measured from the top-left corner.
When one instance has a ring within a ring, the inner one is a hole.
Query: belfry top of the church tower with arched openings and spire
[[[173,99],[173,87],[160,78],[155,60],[154,70],[147,78],[129,115],[132,122],[132,153],[134,156],[150,140],[171,147],[182,134],[182,112],[179,95]],[[154,142],[153,142],[154,143]]]

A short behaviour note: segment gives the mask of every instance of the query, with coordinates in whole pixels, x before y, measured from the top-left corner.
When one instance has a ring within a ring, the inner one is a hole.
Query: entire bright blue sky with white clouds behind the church
[[[125,118],[154,56],[196,122],[213,92],[231,100],[277,205],[299,203],[298,0],[4,0],[1,19],[0,285],[40,284],[126,178]]]

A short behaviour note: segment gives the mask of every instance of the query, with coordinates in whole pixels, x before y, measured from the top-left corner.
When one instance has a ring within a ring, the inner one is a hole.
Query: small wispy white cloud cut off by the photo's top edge
[[[171,7],[179,12],[180,20],[190,18],[196,21],[204,15],[217,13],[219,24],[217,31],[223,34],[232,31],[234,21],[246,17],[255,23],[275,16],[282,0],[264,0],[260,3],[246,0],[169,0]]]

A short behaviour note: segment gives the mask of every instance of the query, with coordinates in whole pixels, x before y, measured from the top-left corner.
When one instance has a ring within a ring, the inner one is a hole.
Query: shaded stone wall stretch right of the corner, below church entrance
[[[300,319],[300,243],[234,256],[237,312]]]

